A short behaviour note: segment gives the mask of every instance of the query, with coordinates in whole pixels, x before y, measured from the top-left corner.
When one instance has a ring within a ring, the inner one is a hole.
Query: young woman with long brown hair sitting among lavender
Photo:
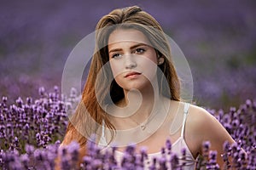
[[[159,23],[137,6],[115,9],[96,26],[89,76],[62,144],[78,141],[83,157],[91,134],[98,144],[118,144],[118,160],[131,143],[147,146],[149,159],[160,156],[170,139],[177,155],[186,150],[187,169],[195,168],[204,141],[218,151],[220,166],[224,141],[234,143],[206,110],[180,99],[169,42]]]

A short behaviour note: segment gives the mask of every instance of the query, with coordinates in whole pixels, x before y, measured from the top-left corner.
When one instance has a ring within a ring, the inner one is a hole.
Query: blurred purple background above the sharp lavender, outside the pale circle
[[[183,50],[198,105],[229,108],[256,96],[256,1],[1,1],[0,96],[61,85],[68,54],[113,8],[139,5]]]

